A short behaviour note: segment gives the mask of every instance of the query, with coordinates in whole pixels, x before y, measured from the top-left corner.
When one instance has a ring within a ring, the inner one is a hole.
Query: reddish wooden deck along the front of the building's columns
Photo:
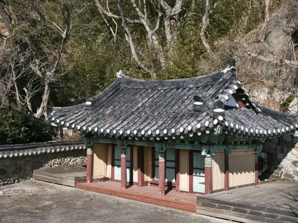
[[[158,187],[129,185],[127,189],[120,189],[120,183],[113,181],[77,183],[75,188],[196,213],[195,194],[166,190],[165,196],[158,196]]]

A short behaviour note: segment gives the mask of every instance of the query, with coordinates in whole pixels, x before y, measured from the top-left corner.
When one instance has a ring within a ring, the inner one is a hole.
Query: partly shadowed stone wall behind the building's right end
[[[282,179],[298,182],[298,137],[284,136],[267,139],[262,152],[267,154],[268,167],[259,176],[264,179]]]

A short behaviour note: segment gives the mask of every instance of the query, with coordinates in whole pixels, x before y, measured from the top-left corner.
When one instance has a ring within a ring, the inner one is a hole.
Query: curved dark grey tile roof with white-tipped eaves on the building
[[[249,109],[226,110],[224,117],[218,119],[213,114],[215,102],[225,104],[236,92],[243,92]],[[194,111],[194,96],[204,102],[202,111]],[[238,81],[233,66],[205,76],[174,80],[139,80],[119,70],[116,80],[86,103],[51,108],[48,114],[56,125],[116,136],[179,135],[218,123],[233,132],[258,136],[272,135],[273,129],[276,132],[280,129],[278,133],[282,134],[298,127],[295,115],[255,105]]]

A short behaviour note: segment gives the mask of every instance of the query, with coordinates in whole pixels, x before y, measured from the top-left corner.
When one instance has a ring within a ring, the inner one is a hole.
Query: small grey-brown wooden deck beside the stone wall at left
[[[83,165],[34,169],[33,178],[74,187],[75,183],[86,182],[86,167]]]

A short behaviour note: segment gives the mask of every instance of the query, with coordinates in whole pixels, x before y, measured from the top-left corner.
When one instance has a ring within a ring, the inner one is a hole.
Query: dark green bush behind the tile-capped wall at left
[[[45,142],[57,137],[57,128],[40,124],[28,110],[0,111],[0,145]]]

